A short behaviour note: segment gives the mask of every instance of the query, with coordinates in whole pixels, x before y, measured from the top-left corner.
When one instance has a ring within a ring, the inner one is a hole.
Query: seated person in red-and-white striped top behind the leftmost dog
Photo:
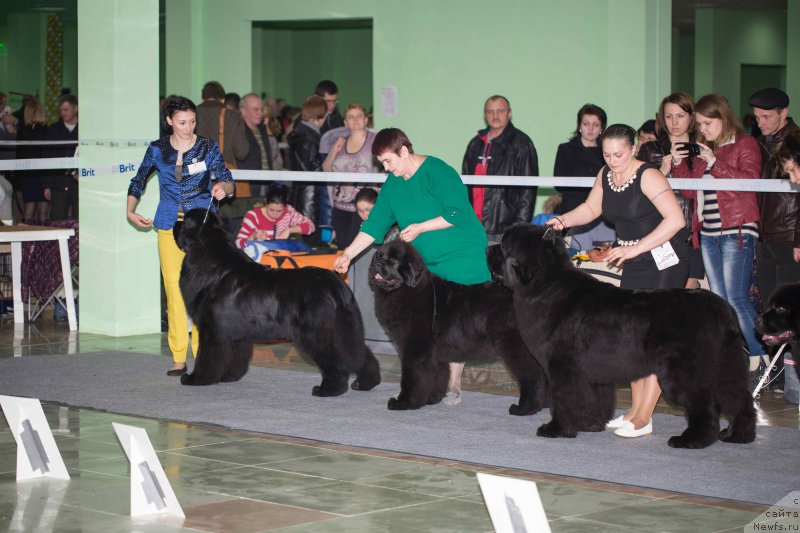
[[[288,195],[289,190],[285,185],[271,185],[266,204],[244,215],[242,227],[236,236],[236,246],[244,248],[250,241],[288,239],[293,233],[313,233],[314,223],[286,203]]]

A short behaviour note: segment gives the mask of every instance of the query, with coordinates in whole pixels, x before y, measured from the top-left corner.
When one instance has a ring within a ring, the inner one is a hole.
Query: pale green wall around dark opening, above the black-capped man
[[[695,97],[715,92],[728,98],[733,109],[743,109],[749,94],[741,94],[742,65],[785,66],[786,59],[785,14],[697,9]],[[800,94],[789,96],[800,99]]]

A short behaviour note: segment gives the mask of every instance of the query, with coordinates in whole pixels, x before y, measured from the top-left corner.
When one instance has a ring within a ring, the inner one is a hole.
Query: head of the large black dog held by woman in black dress
[[[490,268],[499,270],[503,284],[510,289],[549,279],[570,267],[563,243],[544,226],[519,224],[508,228],[501,250],[490,249],[489,254]]]

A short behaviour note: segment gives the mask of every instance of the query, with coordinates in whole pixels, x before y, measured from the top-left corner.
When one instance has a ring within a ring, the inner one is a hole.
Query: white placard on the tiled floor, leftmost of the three
[[[0,396],[0,406],[17,441],[17,481],[42,477],[69,479],[42,403],[35,398]]]

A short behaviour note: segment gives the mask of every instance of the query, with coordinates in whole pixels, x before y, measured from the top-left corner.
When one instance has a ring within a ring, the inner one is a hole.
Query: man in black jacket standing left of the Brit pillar
[[[58,111],[61,120],[47,128],[48,141],[72,141],[63,145],[51,145],[47,157],[73,157],[78,146],[78,99],[65,94],[59,99]],[[71,216],[78,218],[78,171],[53,170],[44,179],[44,197],[50,201],[50,220],[61,220]],[[70,211],[70,208],[72,210]]]

